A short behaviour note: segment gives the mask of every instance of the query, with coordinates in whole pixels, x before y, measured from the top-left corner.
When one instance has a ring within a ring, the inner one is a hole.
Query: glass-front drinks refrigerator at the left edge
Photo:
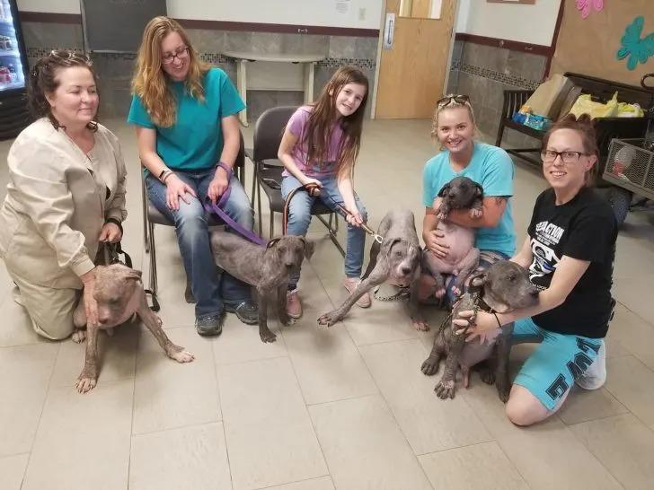
[[[30,123],[27,70],[16,0],[0,0],[0,139],[16,136]]]

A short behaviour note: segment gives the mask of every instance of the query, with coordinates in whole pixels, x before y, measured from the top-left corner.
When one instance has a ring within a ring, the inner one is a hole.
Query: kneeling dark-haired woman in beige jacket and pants
[[[94,121],[98,102],[88,58],[69,51],[41,58],[29,85],[40,118],[7,157],[0,257],[17,285],[15,301],[50,339],[73,333],[80,296],[89,321],[97,321],[94,259],[101,241],[120,240],[127,216],[125,163],[116,136]]]

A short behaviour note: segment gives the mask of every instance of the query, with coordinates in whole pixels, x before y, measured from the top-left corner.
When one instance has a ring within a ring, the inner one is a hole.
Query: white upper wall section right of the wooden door
[[[550,46],[561,0],[535,4],[490,4],[460,0],[456,32]]]

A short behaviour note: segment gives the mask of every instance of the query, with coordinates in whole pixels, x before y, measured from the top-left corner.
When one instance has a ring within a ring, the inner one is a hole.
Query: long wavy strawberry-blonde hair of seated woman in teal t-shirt
[[[189,74],[184,85],[191,97],[204,101],[202,78],[211,67],[199,59],[179,22],[163,16],[147,22],[141,46],[138,48],[132,93],[141,99],[147,114],[159,127],[171,127],[177,119],[177,101],[163,72],[161,61],[161,43],[171,32],[177,32],[189,48]]]

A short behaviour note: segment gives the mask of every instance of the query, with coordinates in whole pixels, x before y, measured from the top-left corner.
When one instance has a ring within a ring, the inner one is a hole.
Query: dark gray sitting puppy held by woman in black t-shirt
[[[519,308],[533,306],[538,302],[538,289],[529,281],[528,272],[509,260],[499,260],[478,276],[473,276],[472,287],[481,287],[479,297],[491,311],[506,313]],[[456,372],[461,367],[464,374],[464,386],[468,387],[469,371],[475,364],[491,356],[497,346],[497,363],[494,376],[492,372],[482,375],[482,380],[492,384],[495,381],[499,398],[506,402],[511,388],[508,381],[508,354],[511,350],[513,323],[503,326],[497,337],[482,343],[479,338],[465,342],[465,335],[455,335],[457,327],[452,323],[459,311],[473,310],[474,294],[466,292],[452,310],[452,315],[443,322],[434,338],[434,346],[427,360],[422,363],[421,371],[431,376],[438,371],[440,359],[446,355],[445,372],[436,385],[439,398],[455,397]]]

